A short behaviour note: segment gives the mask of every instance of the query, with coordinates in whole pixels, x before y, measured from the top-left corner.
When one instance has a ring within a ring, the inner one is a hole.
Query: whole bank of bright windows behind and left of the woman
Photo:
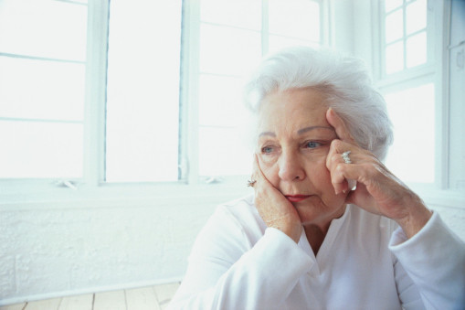
[[[316,0],[0,2],[0,180],[248,175],[243,79],[271,50],[320,45],[321,12]]]

